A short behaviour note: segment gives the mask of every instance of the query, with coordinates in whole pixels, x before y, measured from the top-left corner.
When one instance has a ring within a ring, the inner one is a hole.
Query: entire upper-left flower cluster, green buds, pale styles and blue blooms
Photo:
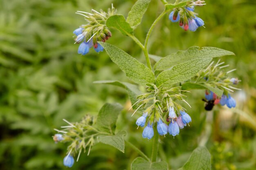
[[[97,12],[92,9],[92,13],[77,11],[79,15],[83,15],[88,24],[81,25],[79,28],[74,30],[76,35],[75,43],[79,44],[78,53],[85,55],[89,53],[91,47],[94,48],[96,52],[103,51],[103,47],[97,43],[98,41],[105,42],[111,37],[111,32],[106,26],[105,22],[108,17],[116,13],[115,8],[112,6],[108,9],[108,13],[100,10]]]

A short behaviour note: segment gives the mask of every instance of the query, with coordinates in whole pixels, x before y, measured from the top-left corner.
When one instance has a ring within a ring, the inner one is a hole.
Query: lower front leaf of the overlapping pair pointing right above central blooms
[[[204,68],[212,58],[194,59],[174,66],[170,70],[163,71],[157,76],[157,87],[169,88],[171,84],[182,82],[193,77]]]

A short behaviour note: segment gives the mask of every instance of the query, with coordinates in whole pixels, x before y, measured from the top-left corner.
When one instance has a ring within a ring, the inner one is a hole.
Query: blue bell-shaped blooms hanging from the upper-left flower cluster
[[[73,33],[76,35],[75,41],[76,43],[80,43],[79,48],[78,48],[78,53],[85,55],[89,53],[89,49],[93,46],[94,50],[99,53],[100,51],[103,51],[103,47],[99,43],[93,44],[92,38],[90,40],[86,41],[85,35],[86,32],[83,31],[84,28],[80,27],[76,29]]]

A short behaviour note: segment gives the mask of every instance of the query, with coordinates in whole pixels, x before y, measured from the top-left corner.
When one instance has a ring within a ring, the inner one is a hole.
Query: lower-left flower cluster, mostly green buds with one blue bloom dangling
[[[57,134],[53,136],[55,143],[58,142],[71,142],[67,147],[67,155],[63,159],[64,166],[72,167],[74,164],[74,156],[78,153],[76,161],[79,160],[82,150],[89,147],[88,155],[90,154],[91,147],[95,144],[95,140],[98,135],[102,135],[99,130],[94,128],[95,119],[90,115],[86,115],[81,122],[76,122],[75,124],[63,119],[67,122],[68,126],[61,126],[63,130],[56,130]]]

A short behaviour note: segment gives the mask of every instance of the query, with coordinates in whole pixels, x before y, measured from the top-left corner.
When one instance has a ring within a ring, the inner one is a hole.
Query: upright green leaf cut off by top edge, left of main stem
[[[137,0],[128,13],[126,21],[130,23],[133,29],[136,28],[141,22],[141,19],[148,8],[151,0]]]

